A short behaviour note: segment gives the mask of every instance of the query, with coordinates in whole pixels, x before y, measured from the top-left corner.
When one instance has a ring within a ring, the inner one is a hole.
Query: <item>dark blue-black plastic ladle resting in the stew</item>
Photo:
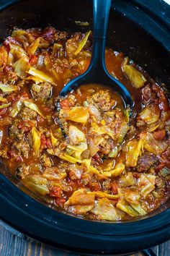
[[[125,106],[132,109],[133,100],[130,93],[121,82],[109,74],[105,65],[105,45],[110,6],[111,0],[93,1],[93,50],[89,68],[84,74],[68,82],[61,90],[60,96],[65,97],[80,85],[106,85],[119,93],[122,96]]]

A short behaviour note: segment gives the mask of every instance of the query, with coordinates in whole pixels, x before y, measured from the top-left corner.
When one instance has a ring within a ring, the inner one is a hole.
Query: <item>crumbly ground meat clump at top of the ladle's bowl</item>
[[[109,91],[100,90],[99,93],[95,93],[87,97],[89,104],[97,106],[102,111],[109,111],[113,106],[115,106],[115,100],[112,100],[109,95]]]

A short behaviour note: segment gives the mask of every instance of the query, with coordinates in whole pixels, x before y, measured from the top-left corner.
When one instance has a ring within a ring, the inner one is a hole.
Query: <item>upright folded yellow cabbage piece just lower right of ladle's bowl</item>
[[[127,145],[126,166],[135,167],[143,148],[143,140],[130,140]]]

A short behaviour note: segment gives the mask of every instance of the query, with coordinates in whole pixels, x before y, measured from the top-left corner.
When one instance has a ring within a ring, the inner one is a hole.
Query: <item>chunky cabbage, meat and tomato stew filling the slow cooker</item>
[[[91,31],[13,30],[0,46],[0,156],[53,208],[84,218],[143,216],[169,197],[170,108],[164,84],[122,53],[107,69],[133,96],[133,114],[104,85],[58,93],[86,71]]]

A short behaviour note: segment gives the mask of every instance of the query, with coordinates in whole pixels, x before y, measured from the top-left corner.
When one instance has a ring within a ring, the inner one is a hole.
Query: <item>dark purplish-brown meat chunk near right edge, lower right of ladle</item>
[[[158,159],[156,158],[155,155],[150,154],[150,153],[145,153],[140,158],[138,158],[138,164],[137,168],[138,171],[147,171],[151,166],[153,166]]]

